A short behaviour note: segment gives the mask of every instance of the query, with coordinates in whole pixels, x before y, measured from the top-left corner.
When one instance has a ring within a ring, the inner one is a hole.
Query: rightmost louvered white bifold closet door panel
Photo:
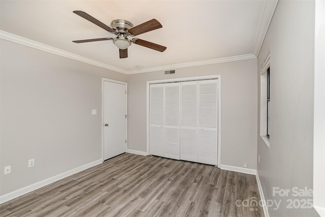
[[[199,81],[198,162],[217,165],[218,147],[217,79]]]

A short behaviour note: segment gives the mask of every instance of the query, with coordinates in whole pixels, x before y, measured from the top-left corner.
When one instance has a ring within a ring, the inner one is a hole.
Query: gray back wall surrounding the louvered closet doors
[[[256,59],[128,75],[128,148],[147,151],[146,82],[221,75],[221,164],[256,169]]]

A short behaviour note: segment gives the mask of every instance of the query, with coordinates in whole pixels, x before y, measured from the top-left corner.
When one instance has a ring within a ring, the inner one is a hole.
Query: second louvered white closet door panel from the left
[[[179,160],[180,84],[165,84],[164,157]]]

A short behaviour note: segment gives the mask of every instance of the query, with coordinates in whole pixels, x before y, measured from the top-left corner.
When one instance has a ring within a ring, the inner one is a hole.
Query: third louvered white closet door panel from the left
[[[198,81],[181,82],[180,159],[198,162]]]

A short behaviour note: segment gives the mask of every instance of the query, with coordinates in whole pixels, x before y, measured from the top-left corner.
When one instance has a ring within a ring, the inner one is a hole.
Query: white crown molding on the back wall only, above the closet
[[[174,64],[174,65],[167,65],[167,66],[160,66],[160,67],[151,67],[151,68],[142,69],[142,70],[132,70],[132,71],[127,71],[126,74],[132,75],[132,74],[145,73],[145,72],[173,70],[173,69],[179,69],[179,68],[186,68],[186,67],[193,67],[193,66],[204,66],[204,65],[219,64],[219,63],[227,63],[227,62],[232,62],[232,61],[255,59],[255,58],[256,58],[256,56],[254,54],[245,54],[245,55],[239,55],[239,56],[230,56],[230,57],[217,58],[217,59],[194,61],[194,62],[183,63],[183,64]]]

